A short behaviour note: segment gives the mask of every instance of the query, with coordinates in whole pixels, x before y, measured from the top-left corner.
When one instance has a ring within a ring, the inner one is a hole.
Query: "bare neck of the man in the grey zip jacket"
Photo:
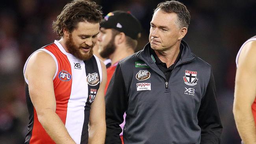
[[[172,48],[169,48],[169,50],[165,51],[156,51],[156,55],[158,58],[163,62],[166,63],[167,68],[174,64],[176,61],[179,52],[180,52],[180,43],[178,46],[173,46]]]

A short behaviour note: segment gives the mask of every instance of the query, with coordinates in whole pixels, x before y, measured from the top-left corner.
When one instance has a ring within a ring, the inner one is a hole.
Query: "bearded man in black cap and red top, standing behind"
[[[105,94],[117,63],[134,54],[140,35],[141,24],[129,12],[113,11],[104,17],[98,35],[98,52],[101,57],[111,59],[111,66],[107,69]],[[125,115],[124,113],[124,117]],[[123,128],[124,122],[120,126]],[[120,136],[122,139],[122,133]]]

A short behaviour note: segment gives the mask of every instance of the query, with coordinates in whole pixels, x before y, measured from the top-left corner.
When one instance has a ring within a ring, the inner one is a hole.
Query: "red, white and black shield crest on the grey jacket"
[[[194,86],[198,81],[197,72],[185,70],[185,76],[183,76],[183,79],[186,85]]]

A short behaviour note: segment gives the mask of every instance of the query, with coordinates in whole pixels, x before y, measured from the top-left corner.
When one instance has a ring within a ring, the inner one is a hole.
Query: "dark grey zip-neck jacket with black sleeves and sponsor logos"
[[[182,41],[169,81],[150,44],[119,62],[106,93],[106,144],[219,144],[222,131],[211,65]]]

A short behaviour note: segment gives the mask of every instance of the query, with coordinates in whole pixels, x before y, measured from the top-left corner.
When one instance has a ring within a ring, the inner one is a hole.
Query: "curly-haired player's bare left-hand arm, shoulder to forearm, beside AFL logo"
[[[56,144],[75,144],[56,111],[53,77],[56,72],[54,59],[46,52],[32,55],[26,67],[30,98],[37,117]]]

